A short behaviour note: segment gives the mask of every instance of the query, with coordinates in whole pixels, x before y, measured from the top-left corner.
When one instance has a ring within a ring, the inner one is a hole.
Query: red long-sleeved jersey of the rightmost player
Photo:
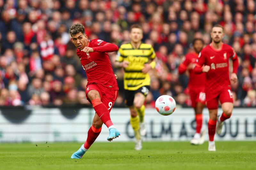
[[[236,73],[238,59],[236,52],[227,44],[222,43],[219,50],[212,47],[212,44],[206,46],[199,53],[195,72],[202,72],[202,66],[210,66],[206,73],[205,92],[221,91],[223,88],[230,87],[228,59],[233,60],[233,72]]]

